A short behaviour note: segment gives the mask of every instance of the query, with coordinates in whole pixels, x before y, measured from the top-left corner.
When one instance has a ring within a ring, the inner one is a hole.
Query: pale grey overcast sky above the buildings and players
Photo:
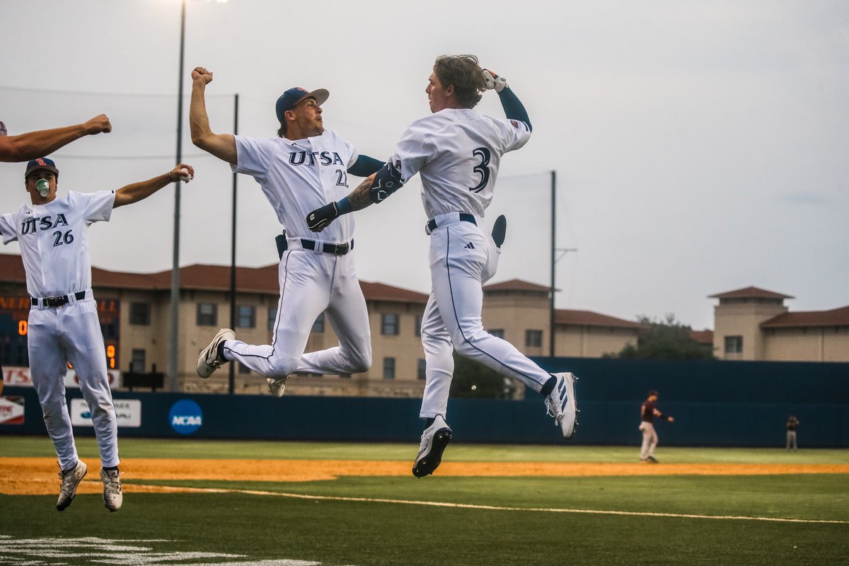
[[[0,120],[10,134],[82,122],[114,130],[53,155],[59,193],[119,188],[171,168],[177,149],[180,0],[0,2]],[[505,76],[534,126],[508,154],[487,211],[509,220],[492,282],[548,285],[557,174],[559,308],[713,327],[707,295],[756,285],[791,310],[849,305],[849,3],[799,0],[378,2],[187,0],[190,70],[215,132],[270,137],[285,88],[325,87],[325,126],[385,159],[429,112],[440,54],[475,53]],[[486,93],[478,109],[503,117]],[[183,188],[181,265],[230,261],[232,176],[183,128],[197,177]],[[0,164],[0,212],[26,199]],[[356,179],[355,179],[356,181]],[[355,185],[351,184],[351,188]],[[367,281],[427,293],[418,178],[357,213]],[[280,227],[240,176],[237,261],[276,261]],[[173,188],[90,229],[93,265],[171,267]],[[16,244],[0,253],[18,253]]]

